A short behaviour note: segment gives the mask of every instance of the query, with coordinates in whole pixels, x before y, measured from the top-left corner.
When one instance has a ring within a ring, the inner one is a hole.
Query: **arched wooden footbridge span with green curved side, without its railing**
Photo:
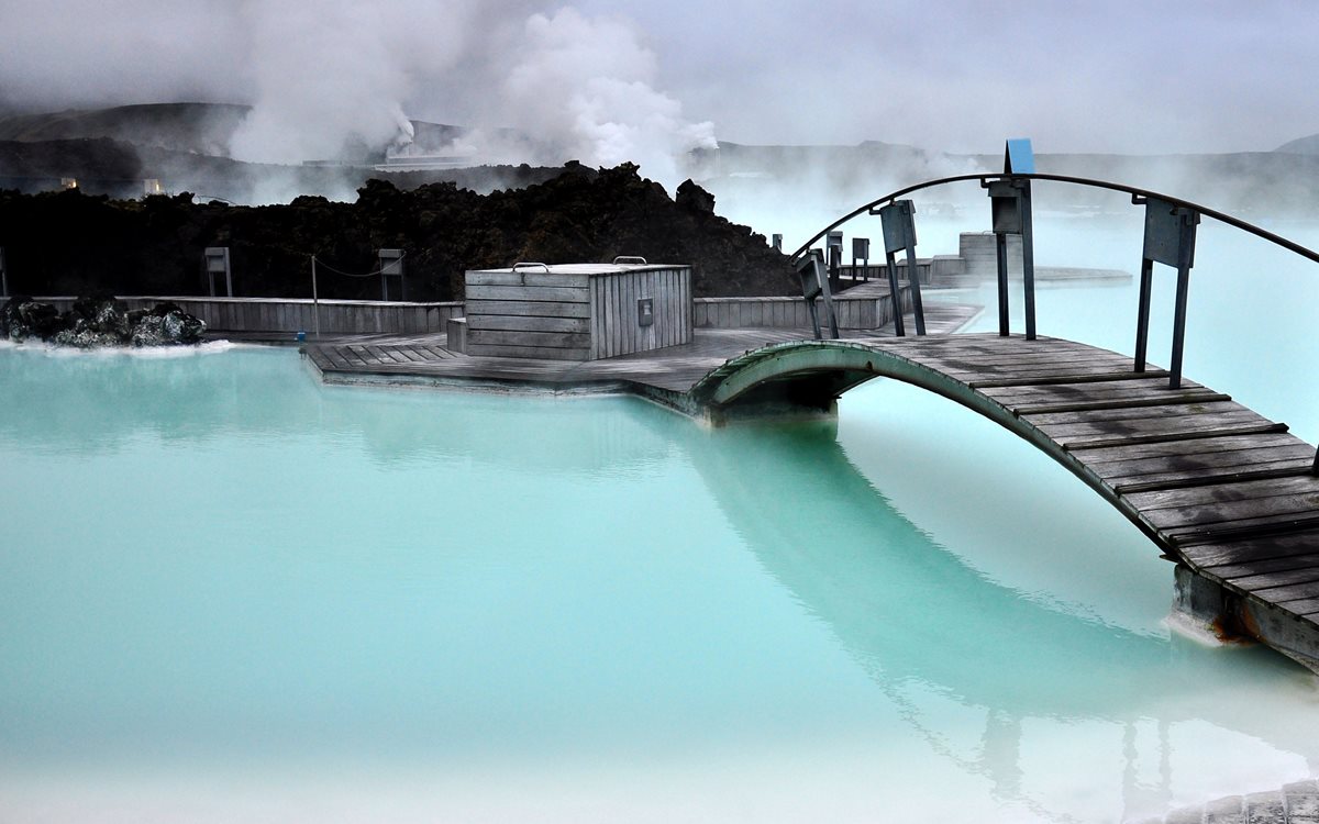
[[[1086,344],[991,334],[776,344],[687,397],[714,422],[828,411],[881,376],[973,409],[1067,467],[1178,562],[1179,606],[1319,664],[1314,447],[1225,394],[1170,389],[1166,372]]]

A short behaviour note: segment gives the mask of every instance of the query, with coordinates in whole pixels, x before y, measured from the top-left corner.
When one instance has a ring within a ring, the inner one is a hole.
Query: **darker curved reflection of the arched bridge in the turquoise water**
[[[1115,773],[1079,780],[1120,784],[1122,820],[1158,813],[1179,782],[1194,784],[1187,736],[1236,744],[1240,755],[1264,742],[1314,773],[1319,729],[1252,697],[1275,692],[1279,676],[1306,688],[1282,659],[1261,649],[1210,654],[996,583],[894,510],[830,422],[735,426],[708,439],[687,457],[765,571],[824,622],[931,751],[991,782],[1000,802],[1045,820],[1082,812],[1055,808],[1067,802],[1028,778],[1026,761],[1057,757],[1059,736],[1067,748],[1103,748]],[[785,489],[785,477],[801,485]],[[757,514],[766,509],[791,517]],[[1224,667],[1221,655],[1249,666]],[[1174,687],[1154,693],[1150,679]],[[966,737],[968,716],[980,719],[977,740]],[[1095,755],[1068,758],[1093,765]]]

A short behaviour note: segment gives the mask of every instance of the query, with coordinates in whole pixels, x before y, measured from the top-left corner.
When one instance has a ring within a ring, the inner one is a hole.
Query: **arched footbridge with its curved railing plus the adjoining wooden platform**
[[[1145,206],[1134,357],[1039,336],[1034,319],[1030,182],[1099,186]],[[1182,376],[1195,227],[1202,216],[1319,262],[1319,253],[1236,218],[1124,185],[1014,170],[909,187],[844,216],[798,249],[803,289],[831,319],[823,254],[811,245],[859,214],[884,221],[893,256],[914,262],[911,191],[958,181],[989,190],[998,235],[997,334],[944,335],[966,314],[922,307],[911,323],[823,340],[799,328],[698,330],[690,344],[595,361],[474,357],[438,336],[351,339],[305,351],[327,382],[452,385],[567,393],[632,392],[720,425],[737,418],[830,414],[848,389],[901,380],[962,403],[1026,439],[1129,518],[1178,566],[1178,608],[1223,635],[1257,638],[1319,671],[1319,476],[1315,448],[1231,397]],[[898,207],[901,204],[901,207]],[[1005,236],[1024,240],[1025,332],[1010,334]],[[1178,274],[1169,368],[1146,363],[1151,270]],[[914,266],[909,266],[909,272]],[[814,309],[813,309],[814,312]],[[905,336],[914,327],[915,336]],[[934,334],[922,334],[922,332]],[[1041,502],[1047,506],[1047,502]]]

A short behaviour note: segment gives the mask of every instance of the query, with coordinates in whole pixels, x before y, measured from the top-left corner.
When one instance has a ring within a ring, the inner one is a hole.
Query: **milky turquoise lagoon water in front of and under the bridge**
[[[1042,331],[1122,348],[1128,291]],[[1188,374],[1315,431],[1192,306]],[[1117,821],[1319,770],[1312,676],[1171,633],[1133,527],[898,384],[710,431],[11,347],[0,398],[4,821]]]

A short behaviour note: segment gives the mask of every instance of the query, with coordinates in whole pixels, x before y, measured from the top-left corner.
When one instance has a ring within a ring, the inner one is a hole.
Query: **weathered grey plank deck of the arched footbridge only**
[[[878,374],[896,374],[900,367],[930,370],[936,390],[1051,454],[1167,558],[1279,610],[1319,638],[1315,447],[1289,434],[1285,423],[1194,381],[1169,389],[1159,369],[1136,373],[1128,356],[1068,340],[991,334],[852,339],[844,345],[886,356],[888,365],[873,359]],[[811,348],[830,345],[794,347],[801,357]],[[720,373],[732,380],[753,369],[757,360],[782,360],[777,368],[785,376],[806,365],[777,349],[729,361],[712,374],[714,382]],[[757,380],[764,373],[758,369]]]

